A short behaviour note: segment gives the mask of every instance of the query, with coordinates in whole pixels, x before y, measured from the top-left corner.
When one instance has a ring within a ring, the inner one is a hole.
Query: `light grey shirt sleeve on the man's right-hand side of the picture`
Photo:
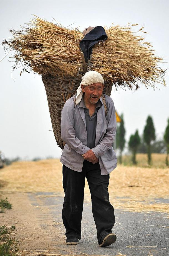
[[[99,142],[99,144],[92,148],[95,156],[101,156],[108,151],[114,142],[114,137],[116,134],[117,124],[116,124],[116,113],[113,101],[109,104],[106,119],[108,120],[108,125],[106,129],[106,133],[104,134],[103,139]]]

